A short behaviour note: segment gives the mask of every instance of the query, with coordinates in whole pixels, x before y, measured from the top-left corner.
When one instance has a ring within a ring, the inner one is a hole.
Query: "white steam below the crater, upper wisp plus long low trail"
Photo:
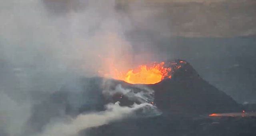
[[[46,126],[42,134],[38,136],[76,136],[81,130],[86,130],[87,128],[101,126],[103,124],[108,124],[110,122],[121,120],[131,117],[149,117],[160,115],[155,105],[147,103],[147,100],[152,100],[150,92],[140,92],[138,94],[132,93],[130,89],[124,89],[121,85],[117,85],[115,90],[104,91],[106,94],[113,95],[117,92],[122,92],[123,95],[128,96],[130,99],[144,100],[141,104],[136,104],[130,107],[120,106],[120,102],[109,103],[106,105],[106,110],[98,113],[87,113],[80,114],[74,119],[70,119],[67,122],[50,123]]]

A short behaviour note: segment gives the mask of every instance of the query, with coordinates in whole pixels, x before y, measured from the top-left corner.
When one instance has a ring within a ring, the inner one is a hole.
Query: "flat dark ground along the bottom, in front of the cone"
[[[80,132],[80,136],[256,136],[256,118],[182,116],[127,119]]]

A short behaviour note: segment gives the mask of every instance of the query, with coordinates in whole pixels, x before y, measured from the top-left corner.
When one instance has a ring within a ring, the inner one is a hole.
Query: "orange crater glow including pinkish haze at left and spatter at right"
[[[185,61],[156,63],[140,65],[135,69],[127,70],[126,66],[116,65],[113,61],[108,63],[108,69],[98,70],[100,76],[123,80],[130,84],[156,84],[166,78],[172,78],[172,74],[180,69]]]

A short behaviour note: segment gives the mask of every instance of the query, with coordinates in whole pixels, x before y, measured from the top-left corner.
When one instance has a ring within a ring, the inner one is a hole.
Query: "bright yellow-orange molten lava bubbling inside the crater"
[[[154,64],[147,68],[146,65],[139,66],[138,70],[130,70],[128,72],[116,72],[113,77],[117,80],[124,80],[130,84],[155,84],[162,81],[164,78],[171,78],[169,73],[171,68],[164,68],[164,62]]]

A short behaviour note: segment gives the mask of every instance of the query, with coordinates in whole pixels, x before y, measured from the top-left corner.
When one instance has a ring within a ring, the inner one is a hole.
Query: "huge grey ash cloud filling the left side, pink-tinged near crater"
[[[124,39],[114,0],[104,4],[100,0],[77,2],[0,2],[0,93],[4,101],[0,105],[1,120],[4,119],[0,122],[4,126],[0,135],[27,135],[24,131],[30,131],[27,127],[34,108],[63,84],[79,76],[97,76],[101,68],[108,69],[102,58],[124,63],[124,56],[129,55],[131,46]],[[48,104],[63,115],[62,107]]]

